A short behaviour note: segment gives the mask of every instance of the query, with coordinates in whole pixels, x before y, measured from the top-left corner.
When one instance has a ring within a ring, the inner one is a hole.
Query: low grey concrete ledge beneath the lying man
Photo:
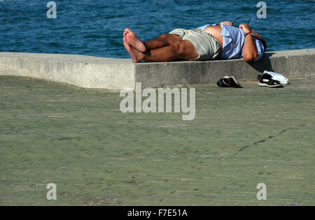
[[[130,59],[0,52],[0,75],[43,78],[85,88],[134,88],[136,82],[142,82],[143,87],[214,84],[224,75],[255,80],[265,70],[287,78],[315,75],[315,48],[267,52],[253,63],[233,59],[133,64]]]

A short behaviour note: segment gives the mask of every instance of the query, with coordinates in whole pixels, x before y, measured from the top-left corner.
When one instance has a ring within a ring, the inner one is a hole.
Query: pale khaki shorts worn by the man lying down
[[[176,34],[181,37],[182,41],[186,40],[193,44],[199,56],[191,60],[213,60],[221,57],[221,45],[216,38],[201,29],[175,29],[169,34]]]

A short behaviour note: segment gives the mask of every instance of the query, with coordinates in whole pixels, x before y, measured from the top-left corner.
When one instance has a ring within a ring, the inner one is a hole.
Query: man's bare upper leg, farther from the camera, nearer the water
[[[175,34],[162,34],[158,38],[143,42],[130,29],[125,29],[124,41],[127,41],[130,46],[134,47],[140,52],[146,52],[148,50],[172,45],[176,41],[181,41],[181,37]]]

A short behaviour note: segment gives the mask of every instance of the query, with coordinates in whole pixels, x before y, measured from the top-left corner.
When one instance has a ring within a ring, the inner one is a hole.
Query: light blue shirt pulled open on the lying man
[[[204,31],[204,29],[206,29],[208,26],[213,25],[216,24],[206,24],[202,27],[198,27],[197,29],[202,29]],[[221,36],[223,36],[223,51],[220,59],[242,58],[245,43],[244,31],[237,27],[232,27],[225,24],[221,24],[221,27]],[[258,57],[257,59],[255,59],[255,61],[258,61],[262,58],[264,54],[264,46],[257,38],[254,37],[253,40],[258,53]]]

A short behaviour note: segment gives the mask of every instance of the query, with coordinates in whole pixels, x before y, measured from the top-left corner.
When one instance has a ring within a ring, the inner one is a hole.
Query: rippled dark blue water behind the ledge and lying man
[[[48,19],[48,0],[0,0],[0,51],[129,57],[123,31],[144,41],[175,28],[193,29],[230,20],[250,25],[267,50],[315,47],[315,1],[265,1],[267,18],[258,19],[258,1],[81,0],[55,1],[57,18]]]

